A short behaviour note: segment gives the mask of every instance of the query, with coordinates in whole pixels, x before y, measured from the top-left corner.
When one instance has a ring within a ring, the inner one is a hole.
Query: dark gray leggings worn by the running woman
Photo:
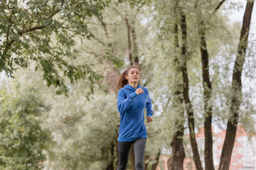
[[[146,138],[141,137],[138,140],[131,142],[117,142],[118,153],[119,153],[119,164],[117,170],[125,170],[129,157],[129,149],[134,143],[134,156],[135,156],[135,169],[144,170],[143,160],[144,151],[146,147]]]

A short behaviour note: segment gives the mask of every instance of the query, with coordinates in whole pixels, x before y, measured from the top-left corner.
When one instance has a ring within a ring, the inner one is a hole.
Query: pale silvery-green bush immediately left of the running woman
[[[90,169],[106,166],[117,137],[116,96],[97,89],[90,101],[78,91],[69,98],[55,96],[44,127],[53,135],[48,169]],[[102,169],[102,168],[100,168]]]

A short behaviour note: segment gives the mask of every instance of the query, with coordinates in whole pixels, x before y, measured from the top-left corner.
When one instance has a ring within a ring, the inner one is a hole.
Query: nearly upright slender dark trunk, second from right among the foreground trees
[[[212,93],[212,86],[210,82],[209,74],[209,55],[206,45],[206,32],[203,26],[203,21],[201,22],[200,31],[201,41],[200,41],[200,52],[201,52],[201,62],[202,62],[202,72],[203,72],[203,101],[204,101],[204,135],[205,135],[205,152],[204,158],[206,163],[206,169],[214,170],[213,165],[213,135],[211,130],[213,108],[210,104],[210,96]]]

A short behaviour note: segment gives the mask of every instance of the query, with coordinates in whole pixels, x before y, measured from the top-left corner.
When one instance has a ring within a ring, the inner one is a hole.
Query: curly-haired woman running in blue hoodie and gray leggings
[[[117,109],[121,116],[119,138],[117,142],[119,164],[117,170],[126,169],[129,149],[134,143],[135,169],[144,170],[144,151],[146,147],[146,126],[144,124],[144,108],[147,122],[153,121],[151,98],[148,89],[140,86],[139,69],[132,66],[119,77],[117,84]]]

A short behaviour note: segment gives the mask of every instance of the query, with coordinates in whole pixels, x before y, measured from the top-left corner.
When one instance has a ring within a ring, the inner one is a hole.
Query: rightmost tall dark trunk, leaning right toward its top
[[[220,166],[219,170],[228,170],[230,166],[230,159],[232,150],[235,142],[235,135],[238,125],[238,113],[240,109],[240,104],[242,102],[242,66],[245,62],[245,53],[248,43],[248,35],[250,30],[250,21],[252,17],[252,8],[254,0],[247,1],[245,8],[245,14],[242,21],[242,30],[240,34],[240,41],[238,45],[238,54],[235,59],[235,66],[233,69],[233,80],[232,80],[232,96],[230,105],[230,116],[228,119],[227,131],[225,136],[225,141],[223,145],[223,150],[220,156]]]

